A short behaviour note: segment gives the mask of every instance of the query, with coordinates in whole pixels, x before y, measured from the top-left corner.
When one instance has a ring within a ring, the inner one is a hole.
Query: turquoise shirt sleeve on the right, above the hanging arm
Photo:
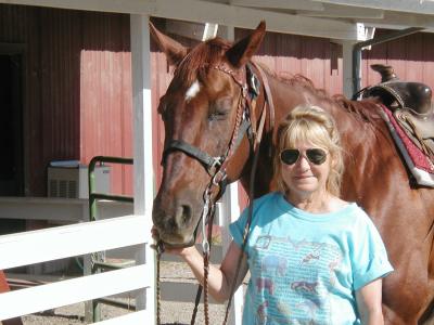
[[[362,218],[363,224],[359,224],[356,229],[358,236],[355,238],[352,256],[355,290],[394,271],[380,233],[369,217],[366,214],[363,217],[366,217]]]

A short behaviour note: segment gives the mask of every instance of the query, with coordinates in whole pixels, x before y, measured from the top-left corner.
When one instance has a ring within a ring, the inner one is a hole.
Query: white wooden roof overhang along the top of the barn
[[[434,30],[434,0],[0,0],[0,3],[143,14],[194,23],[365,40],[366,26]]]

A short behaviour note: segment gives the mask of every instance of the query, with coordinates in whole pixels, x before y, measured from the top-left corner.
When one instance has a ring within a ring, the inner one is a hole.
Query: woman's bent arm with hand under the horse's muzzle
[[[179,255],[189,264],[189,266],[193,271],[194,276],[197,278],[201,285],[203,285],[203,257],[202,253],[200,253],[194,246],[182,249],[168,249],[167,252]],[[235,284],[237,289],[243,281],[245,274],[247,273],[248,266],[245,253],[242,253],[241,248],[235,243],[232,242],[230,244],[219,269],[209,265],[209,295],[219,302],[224,302],[229,299],[232,282],[235,277],[238,261],[241,255],[242,262]]]

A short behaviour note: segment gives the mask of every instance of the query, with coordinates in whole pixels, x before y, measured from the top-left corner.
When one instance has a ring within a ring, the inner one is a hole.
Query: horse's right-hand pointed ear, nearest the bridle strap
[[[265,22],[256,27],[256,29],[247,37],[234,43],[227,52],[226,57],[229,62],[240,67],[246,64],[256,53],[265,36]]]

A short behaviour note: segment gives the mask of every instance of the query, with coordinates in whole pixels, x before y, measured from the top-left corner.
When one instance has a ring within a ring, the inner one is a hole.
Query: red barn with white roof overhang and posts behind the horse
[[[0,234],[88,220],[80,184],[94,156],[135,158],[136,169],[106,166],[103,191],[132,195],[133,209],[119,210],[150,220],[164,142],[156,107],[173,72],[149,21],[191,46],[240,39],[265,20],[256,60],[331,94],[379,82],[374,63],[434,87],[432,1],[263,2],[0,0]]]

